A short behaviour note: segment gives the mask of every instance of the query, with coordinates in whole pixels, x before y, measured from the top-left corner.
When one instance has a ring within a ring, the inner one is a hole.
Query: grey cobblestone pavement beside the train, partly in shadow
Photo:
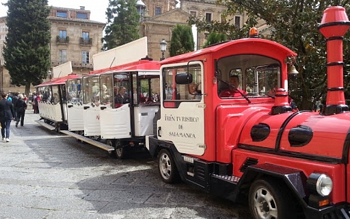
[[[0,142],[0,218],[250,218],[247,207],[165,184],[147,151],[106,151],[41,127],[27,110]]]

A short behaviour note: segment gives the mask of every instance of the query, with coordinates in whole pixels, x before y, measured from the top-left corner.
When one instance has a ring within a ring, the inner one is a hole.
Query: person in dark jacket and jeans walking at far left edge
[[[3,140],[10,142],[10,124],[11,120],[14,119],[14,106],[12,102],[8,101],[8,94],[2,92],[1,97],[3,98],[0,101],[1,136],[3,136]]]

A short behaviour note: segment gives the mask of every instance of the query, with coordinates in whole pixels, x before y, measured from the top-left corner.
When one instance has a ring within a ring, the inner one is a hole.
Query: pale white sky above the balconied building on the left
[[[0,17],[6,16],[8,8],[2,5],[8,0],[0,0]],[[85,10],[90,10],[90,20],[106,23],[106,9],[108,8],[108,0],[49,0],[49,5],[62,8],[79,9],[85,6]]]

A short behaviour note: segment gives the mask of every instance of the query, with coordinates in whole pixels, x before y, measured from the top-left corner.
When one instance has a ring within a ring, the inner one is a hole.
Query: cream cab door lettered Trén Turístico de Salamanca
[[[176,75],[187,74],[192,81],[176,83]],[[174,143],[180,153],[203,155],[204,98],[202,62],[164,65],[162,68],[161,118],[157,123],[158,138]],[[189,92],[191,90],[191,92]]]

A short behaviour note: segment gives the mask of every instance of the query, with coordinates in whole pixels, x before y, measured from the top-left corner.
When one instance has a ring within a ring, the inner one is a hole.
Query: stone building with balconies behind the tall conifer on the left
[[[85,75],[93,68],[92,55],[102,49],[101,38],[105,23],[90,20],[90,10],[51,7],[51,69],[65,62],[72,62],[72,71],[77,75]],[[6,17],[0,18],[0,90],[24,92],[25,87],[11,84],[8,70],[3,68],[3,44],[8,33]],[[48,75],[49,80],[51,75]],[[31,88],[35,90],[35,88]]]

